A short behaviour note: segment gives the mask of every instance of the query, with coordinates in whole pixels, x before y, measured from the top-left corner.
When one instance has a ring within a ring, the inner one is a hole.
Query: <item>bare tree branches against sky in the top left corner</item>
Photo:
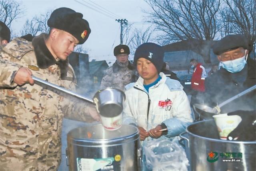
[[[10,28],[13,20],[20,18],[23,14],[20,2],[14,0],[0,0],[0,21]]]

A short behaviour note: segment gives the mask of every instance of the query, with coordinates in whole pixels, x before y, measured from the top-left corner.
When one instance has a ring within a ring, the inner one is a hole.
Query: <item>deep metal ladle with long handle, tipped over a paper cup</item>
[[[46,86],[48,88],[50,87],[53,90],[64,92],[68,95],[74,96],[76,98],[96,105],[96,109],[98,110],[98,112],[103,115],[108,115],[107,117],[116,116],[120,114],[123,110],[123,100],[125,99],[125,94],[122,90],[119,90],[117,88],[104,88],[102,90],[98,90],[92,100],[91,98],[88,98],[76,92],[72,92],[66,88],[49,83],[37,77],[32,76],[32,79],[37,85]]]

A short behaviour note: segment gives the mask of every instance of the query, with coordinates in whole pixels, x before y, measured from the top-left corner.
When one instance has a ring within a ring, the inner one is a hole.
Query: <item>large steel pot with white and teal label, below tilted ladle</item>
[[[122,125],[115,131],[101,124],[79,127],[68,133],[67,141],[70,171],[140,170],[140,136],[135,126]]]

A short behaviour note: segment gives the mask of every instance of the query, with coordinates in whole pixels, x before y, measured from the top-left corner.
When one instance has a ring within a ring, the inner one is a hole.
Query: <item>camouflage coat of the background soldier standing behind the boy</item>
[[[106,69],[106,73],[102,78],[100,88],[114,87],[124,90],[124,86],[129,83],[136,82],[138,74],[129,61],[128,67],[121,68],[117,62]]]

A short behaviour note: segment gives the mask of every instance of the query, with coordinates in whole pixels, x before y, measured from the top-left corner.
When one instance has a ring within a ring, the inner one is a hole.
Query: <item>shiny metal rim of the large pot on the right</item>
[[[194,137],[202,138],[202,139],[204,139],[204,140],[209,140],[209,141],[213,141],[213,142],[237,143],[237,144],[256,144],[256,141],[236,141],[236,140],[234,140],[234,141],[229,141],[229,140],[221,140],[221,139],[207,138],[207,137],[198,136],[198,135],[196,135],[196,134],[193,134],[192,132],[190,132],[190,131],[188,130],[188,127],[191,127],[191,126],[196,125],[196,124],[201,123],[201,122],[209,122],[209,121],[211,121],[211,120],[202,120],[202,121],[199,121],[199,122],[195,122],[195,123],[193,123],[193,124],[190,124],[190,125],[187,126],[187,128],[186,128],[186,133],[188,133],[188,134],[190,134],[190,135],[192,135],[192,136],[194,136]]]

